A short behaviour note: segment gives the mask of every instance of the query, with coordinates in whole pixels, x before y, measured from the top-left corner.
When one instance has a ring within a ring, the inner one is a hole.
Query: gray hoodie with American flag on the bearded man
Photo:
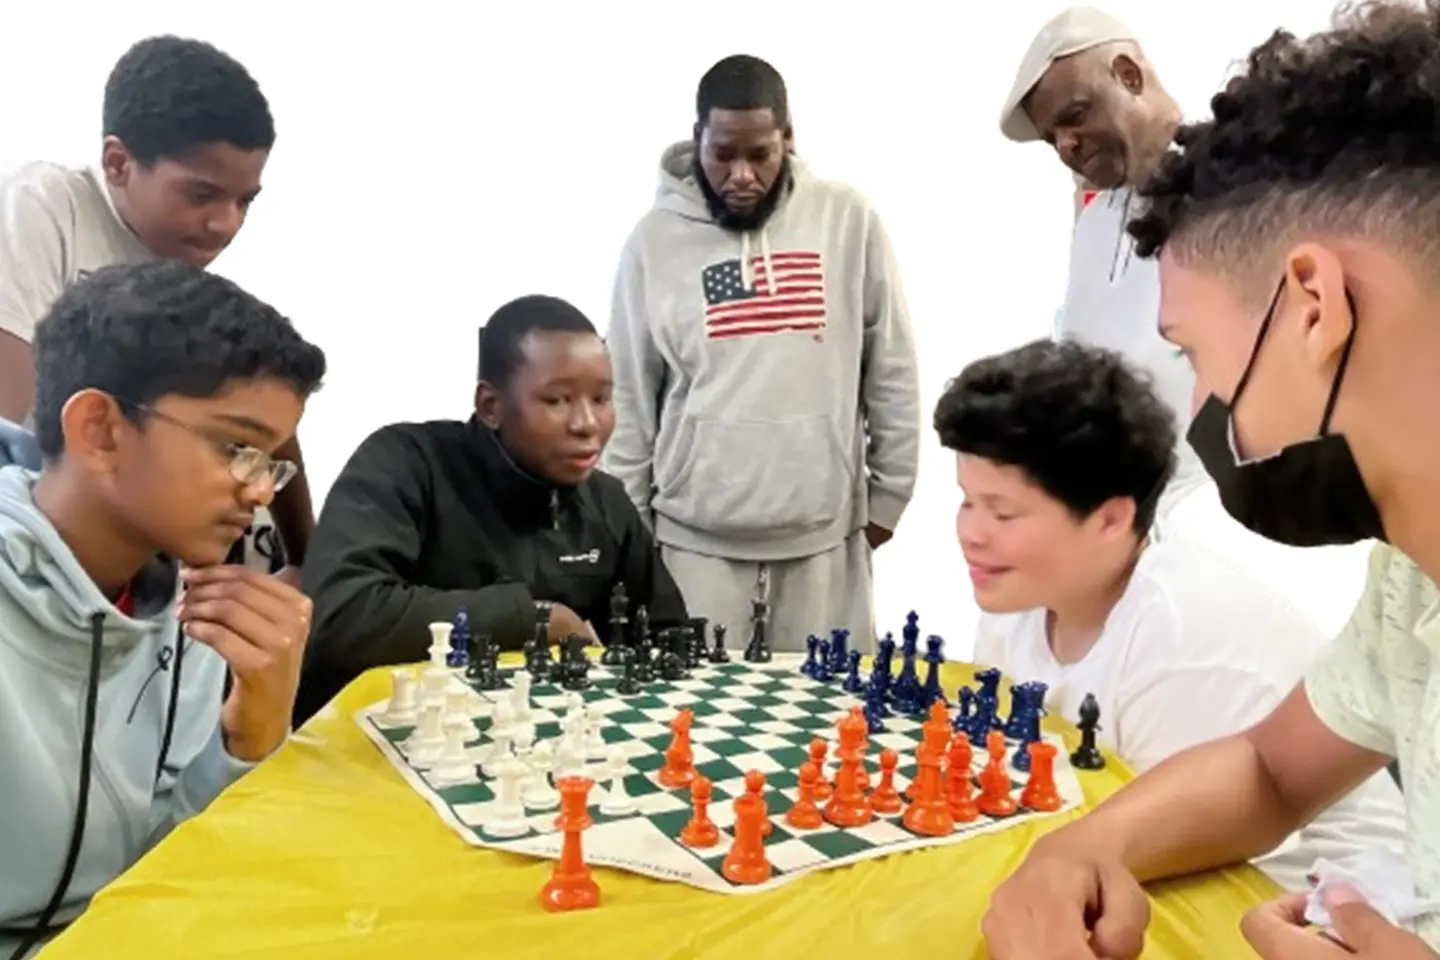
[[[621,255],[605,469],[661,543],[694,553],[786,560],[867,522],[893,530],[914,491],[920,390],[880,217],[792,157],[770,220],[726,230],[693,157],[691,141],[665,150]]]

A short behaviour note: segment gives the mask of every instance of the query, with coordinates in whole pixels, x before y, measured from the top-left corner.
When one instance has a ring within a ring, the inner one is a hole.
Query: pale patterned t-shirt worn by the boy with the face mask
[[[1371,554],[1365,593],[1305,679],[1336,734],[1400,760],[1416,894],[1440,898],[1440,590],[1394,547]],[[1440,948],[1440,914],[1414,924]]]

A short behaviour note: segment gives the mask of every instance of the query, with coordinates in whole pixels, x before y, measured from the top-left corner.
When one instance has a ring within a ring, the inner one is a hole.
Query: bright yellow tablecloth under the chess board
[[[949,688],[962,669],[946,666]],[[360,678],[102,891],[42,960],[979,959],[989,892],[1066,819],[755,895],[599,869],[598,910],[552,915],[537,900],[549,864],[467,846],[354,725],[351,711],[387,694],[386,672]],[[1129,779],[1113,757],[1080,776],[1090,803]],[[1158,887],[1145,957],[1253,957],[1240,915],[1274,892],[1250,868]]]

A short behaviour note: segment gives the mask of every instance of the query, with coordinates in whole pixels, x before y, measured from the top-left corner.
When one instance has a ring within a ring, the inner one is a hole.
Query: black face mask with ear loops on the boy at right
[[[1256,356],[1270,328],[1283,288],[1282,282],[1274,299],[1270,301],[1270,309],[1260,324],[1250,361],[1240,376],[1240,383],[1236,384],[1230,406],[1211,394],[1189,425],[1189,445],[1204,463],[1205,472],[1215,481],[1225,511],[1266,540],[1292,547],[1384,540],[1385,528],[1369,491],[1365,489],[1349,443],[1342,435],[1329,432],[1335,400],[1355,343],[1355,301],[1348,291],[1345,299],[1351,308],[1351,334],[1345,341],[1316,436],[1292,443],[1260,461],[1236,459],[1231,445],[1231,410],[1250,381]]]

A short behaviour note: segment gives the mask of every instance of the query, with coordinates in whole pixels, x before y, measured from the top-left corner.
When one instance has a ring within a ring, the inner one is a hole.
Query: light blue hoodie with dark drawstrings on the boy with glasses
[[[225,661],[176,645],[176,564],[148,567],[131,587],[135,616],[120,613],[36,508],[36,476],[0,465],[0,960],[33,928],[68,861],[91,689],[84,842],[50,927],[252,766],[220,740]]]

